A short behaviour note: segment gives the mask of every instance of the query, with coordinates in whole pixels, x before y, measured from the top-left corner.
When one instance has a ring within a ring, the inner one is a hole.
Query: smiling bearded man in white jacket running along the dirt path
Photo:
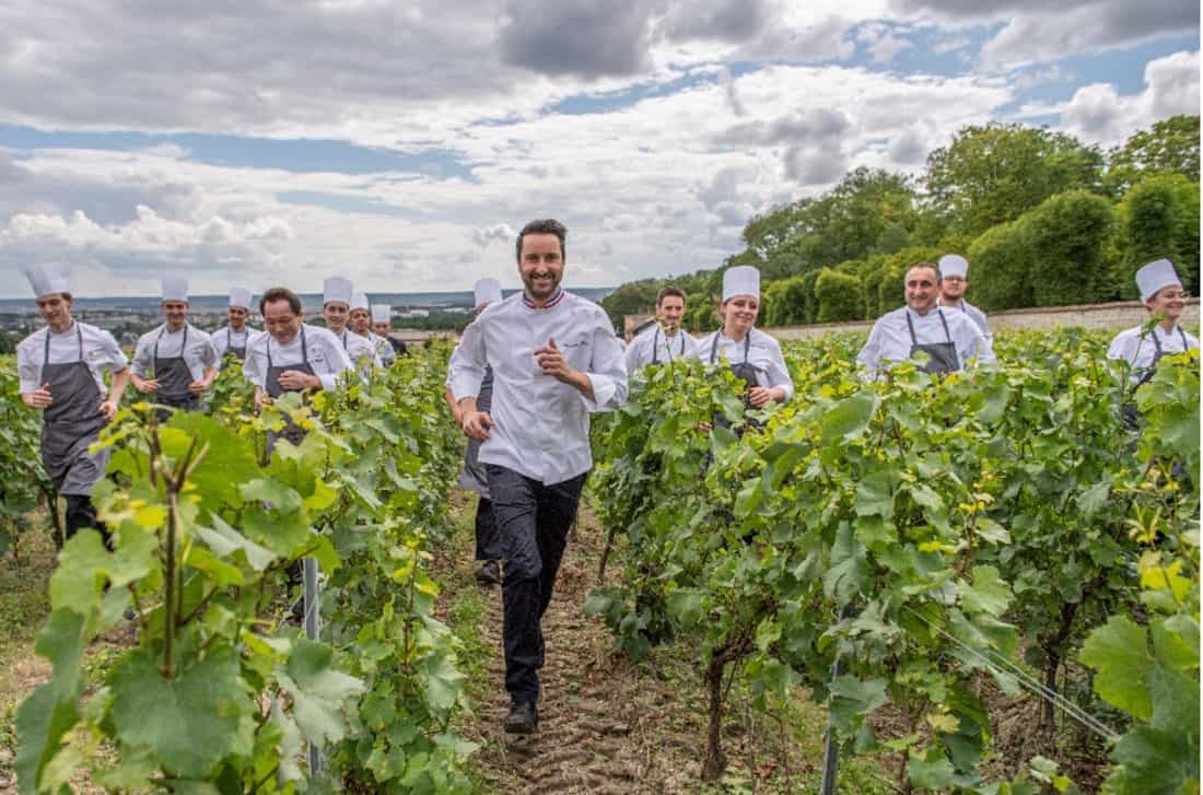
[[[605,312],[564,291],[567,230],[546,219],[517,239],[523,291],[490,304],[464,331],[449,385],[463,432],[482,441],[499,552],[505,560],[505,730],[538,726],[540,621],[593,465],[589,413],[627,398],[623,346]],[[485,368],[493,369],[488,413],[476,410]]]

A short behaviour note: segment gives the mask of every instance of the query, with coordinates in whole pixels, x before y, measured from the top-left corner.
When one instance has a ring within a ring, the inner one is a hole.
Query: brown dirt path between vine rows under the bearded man
[[[468,514],[474,505],[466,499],[462,511]],[[500,651],[500,588],[472,583],[472,546],[457,544],[451,588],[473,588],[473,598],[482,603],[479,630],[485,659],[476,670],[485,681],[469,684],[474,716],[466,734],[481,744],[475,766],[486,791],[699,791],[699,717],[678,700],[672,683],[612,654],[609,631],[585,617],[603,542],[586,506],[543,621],[546,661],[540,671],[539,731],[531,736],[502,729],[509,696]]]

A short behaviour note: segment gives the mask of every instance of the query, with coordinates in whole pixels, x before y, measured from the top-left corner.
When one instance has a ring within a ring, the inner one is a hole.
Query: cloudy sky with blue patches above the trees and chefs
[[[1199,111],[1197,0],[10,0],[0,297],[565,284],[713,267],[747,219],[966,124],[1101,146]]]

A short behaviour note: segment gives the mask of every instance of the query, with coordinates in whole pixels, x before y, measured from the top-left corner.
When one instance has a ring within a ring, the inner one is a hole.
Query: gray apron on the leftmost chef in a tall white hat
[[[49,385],[54,402],[42,413],[42,465],[60,494],[88,497],[93,483],[105,475],[109,450],[88,452],[105,427],[105,415],[100,413],[105,394],[84,361],[79,324],[76,324],[76,333],[79,358],[51,364],[51,330],[46,330],[41,381]]]

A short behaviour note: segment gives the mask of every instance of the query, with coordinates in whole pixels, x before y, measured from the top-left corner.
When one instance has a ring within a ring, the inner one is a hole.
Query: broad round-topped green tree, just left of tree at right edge
[[[1013,221],[1050,196],[1100,188],[1102,154],[1062,132],[1020,124],[967,126],[928,156],[932,209],[972,236]]]

